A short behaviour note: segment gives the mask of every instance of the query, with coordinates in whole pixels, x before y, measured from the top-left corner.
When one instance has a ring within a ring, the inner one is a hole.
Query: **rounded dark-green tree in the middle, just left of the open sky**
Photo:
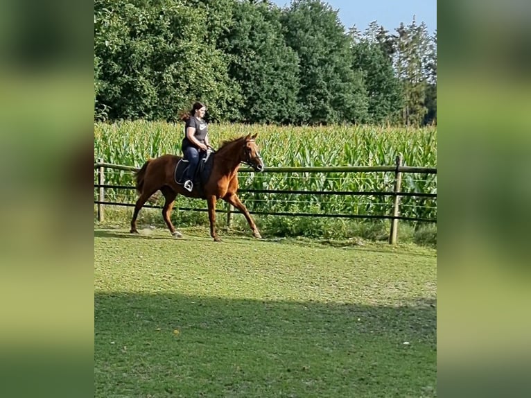
[[[351,41],[338,12],[319,0],[295,0],[281,22],[286,43],[299,56],[299,121],[365,121],[363,76],[351,67]]]

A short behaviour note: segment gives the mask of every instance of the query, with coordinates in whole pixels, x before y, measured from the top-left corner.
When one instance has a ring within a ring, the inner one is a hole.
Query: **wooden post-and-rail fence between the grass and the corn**
[[[134,189],[132,186],[124,185],[110,185],[105,184],[105,168],[121,171],[138,171],[139,168],[134,166],[123,166],[119,164],[110,164],[103,162],[103,159],[98,159],[98,162],[94,164],[94,169],[97,173],[97,184],[94,184],[94,189],[98,189],[98,200],[94,200],[94,203],[98,205],[98,221],[104,220],[104,208],[103,205],[115,205],[115,206],[130,206],[134,207],[134,203],[123,202],[107,202],[105,201],[105,188],[110,189]],[[252,168],[240,168],[239,173],[252,172]],[[419,218],[419,217],[405,217],[400,216],[400,198],[402,196],[412,197],[424,197],[424,198],[437,198],[436,193],[424,193],[424,192],[401,192],[402,175],[404,173],[419,173],[419,174],[437,174],[437,168],[429,167],[412,167],[403,166],[403,159],[401,156],[397,156],[394,166],[338,166],[338,167],[270,167],[265,168],[262,173],[367,173],[367,172],[381,172],[381,173],[394,173],[394,189],[393,191],[285,191],[276,189],[239,189],[239,192],[252,192],[252,193],[288,193],[293,195],[299,194],[313,194],[313,195],[365,195],[365,196],[392,196],[393,208],[390,215],[379,214],[311,214],[311,213],[288,213],[288,212],[269,212],[269,211],[250,211],[250,214],[257,215],[270,215],[270,216],[311,216],[311,217],[336,217],[336,218],[378,218],[391,220],[389,243],[397,243],[397,231],[399,220],[410,220],[421,223],[437,223],[436,218]],[[156,205],[144,205],[144,207],[161,208],[162,206]],[[197,209],[189,207],[177,207],[179,210],[192,210],[192,211],[207,211],[207,209]],[[227,214],[227,225],[232,224],[232,214],[234,208],[227,203],[227,209],[216,210],[218,212],[225,212]]]

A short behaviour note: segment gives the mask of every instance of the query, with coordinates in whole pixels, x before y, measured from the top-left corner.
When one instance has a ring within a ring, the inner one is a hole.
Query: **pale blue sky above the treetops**
[[[338,15],[345,29],[356,25],[359,31],[365,31],[369,23],[377,21],[387,31],[394,32],[403,22],[408,25],[415,21],[424,22],[428,33],[437,29],[437,0],[322,0],[329,3]],[[289,6],[290,0],[273,0],[280,7]]]

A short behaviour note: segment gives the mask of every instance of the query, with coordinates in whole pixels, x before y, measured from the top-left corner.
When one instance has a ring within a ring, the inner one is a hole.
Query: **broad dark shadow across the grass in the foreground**
[[[94,326],[96,397],[435,396],[433,300],[96,293]]]

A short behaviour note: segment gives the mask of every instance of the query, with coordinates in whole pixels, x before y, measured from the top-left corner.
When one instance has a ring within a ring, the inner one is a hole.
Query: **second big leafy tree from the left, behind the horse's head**
[[[229,55],[229,77],[243,98],[238,114],[255,123],[295,123],[299,91],[298,58],[286,46],[276,6],[243,1],[220,40]]]

